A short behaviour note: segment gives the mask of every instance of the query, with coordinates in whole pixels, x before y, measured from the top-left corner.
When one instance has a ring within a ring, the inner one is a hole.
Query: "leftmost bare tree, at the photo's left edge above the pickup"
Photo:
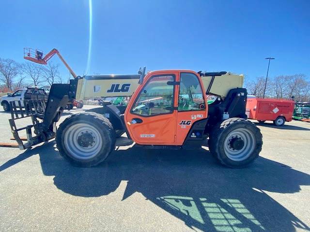
[[[20,71],[20,65],[13,59],[0,58],[0,81],[12,91],[14,78]]]

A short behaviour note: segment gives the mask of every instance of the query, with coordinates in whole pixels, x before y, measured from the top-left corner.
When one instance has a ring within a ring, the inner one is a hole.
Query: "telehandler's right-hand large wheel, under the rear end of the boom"
[[[262,150],[260,129],[244,118],[229,118],[210,133],[209,149],[223,165],[242,168],[252,163]]]

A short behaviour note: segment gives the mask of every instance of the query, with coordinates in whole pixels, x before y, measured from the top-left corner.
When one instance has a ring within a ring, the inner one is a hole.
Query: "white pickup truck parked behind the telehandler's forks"
[[[14,93],[8,93],[8,95],[1,98],[1,105],[3,110],[10,111],[10,102],[20,101],[21,106],[24,107],[24,100],[45,100],[47,102],[47,93],[43,88],[21,88]]]

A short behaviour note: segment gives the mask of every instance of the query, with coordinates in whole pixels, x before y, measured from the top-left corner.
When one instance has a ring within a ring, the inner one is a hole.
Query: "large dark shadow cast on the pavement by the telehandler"
[[[204,149],[148,150],[134,145],[113,152],[93,168],[73,167],[59,155],[54,141],[9,160],[0,171],[39,154],[43,173],[74,196],[98,197],[127,181],[123,200],[140,192],[190,228],[202,231],[295,231],[309,226],[265,191],[295,193],[310,185],[310,175],[259,158],[244,169],[218,164]]]

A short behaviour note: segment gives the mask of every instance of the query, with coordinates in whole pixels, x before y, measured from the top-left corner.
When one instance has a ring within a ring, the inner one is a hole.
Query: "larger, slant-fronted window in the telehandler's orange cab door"
[[[152,76],[133,104],[131,113],[140,116],[172,113],[174,85],[168,85],[168,82],[173,81],[175,76],[172,74]]]

